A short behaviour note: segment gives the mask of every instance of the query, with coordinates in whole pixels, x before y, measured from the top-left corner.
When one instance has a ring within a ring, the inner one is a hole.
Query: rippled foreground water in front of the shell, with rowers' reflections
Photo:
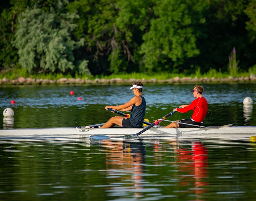
[[[254,200],[248,139],[0,141],[0,200]]]

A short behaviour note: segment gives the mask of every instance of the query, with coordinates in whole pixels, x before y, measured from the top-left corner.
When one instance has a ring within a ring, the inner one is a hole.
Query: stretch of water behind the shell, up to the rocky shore
[[[106,105],[120,105],[133,97],[127,86],[19,86],[0,87],[0,109],[12,108],[15,128],[70,127],[104,123],[113,113]],[[208,101],[204,125],[256,126],[255,106],[243,107],[243,99],[251,97],[256,103],[256,84],[203,85]],[[147,101],[145,118],[151,122],[163,117],[180,105],[190,104],[193,85],[145,84],[143,95]],[[70,91],[74,95],[70,95]],[[82,100],[79,101],[78,97]],[[15,100],[16,104],[11,104]],[[170,120],[188,118],[192,112],[175,113]],[[4,121],[0,118],[0,125]],[[10,123],[6,121],[6,124]],[[10,124],[11,124],[10,123]],[[163,122],[162,125],[168,124]],[[3,125],[4,127],[4,125]]]

